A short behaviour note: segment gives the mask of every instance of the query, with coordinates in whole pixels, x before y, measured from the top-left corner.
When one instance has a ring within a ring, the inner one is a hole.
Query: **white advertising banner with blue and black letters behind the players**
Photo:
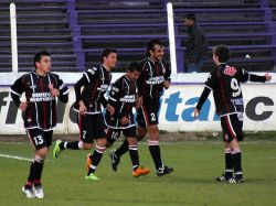
[[[193,118],[193,110],[203,84],[174,84],[161,99],[159,123],[168,131],[220,131],[220,120],[215,115],[213,97],[210,95],[201,110],[199,119]],[[245,84],[242,86],[245,113],[244,130],[269,131],[276,129],[276,85]],[[78,133],[76,112],[72,105],[75,99],[71,88],[67,105],[57,104],[57,127],[55,133]],[[9,87],[0,87],[0,134],[23,134],[21,111],[13,104]]]

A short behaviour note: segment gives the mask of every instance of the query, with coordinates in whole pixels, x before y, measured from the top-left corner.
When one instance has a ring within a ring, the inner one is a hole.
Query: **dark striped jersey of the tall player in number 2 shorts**
[[[163,82],[170,80],[170,67],[163,61],[155,62],[149,57],[140,64],[142,72],[137,80],[139,96],[159,98],[163,94]]]

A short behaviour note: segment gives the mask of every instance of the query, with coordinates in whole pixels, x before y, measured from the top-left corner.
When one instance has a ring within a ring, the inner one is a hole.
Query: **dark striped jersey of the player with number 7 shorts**
[[[88,68],[83,77],[74,85],[76,101],[74,110],[78,112],[78,102],[83,100],[87,115],[102,112],[102,105],[106,107],[105,93],[112,82],[112,74],[103,65]],[[83,88],[83,90],[81,90]]]

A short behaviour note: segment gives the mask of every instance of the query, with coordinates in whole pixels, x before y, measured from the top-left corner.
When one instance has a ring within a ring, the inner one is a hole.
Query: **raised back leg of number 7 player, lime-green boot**
[[[53,156],[56,159],[63,150],[91,150],[93,148],[93,139],[91,131],[92,116],[78,115],[77,123],[79,128],[79,140],[78,141],[61,141],[55,142],[53,149]]]

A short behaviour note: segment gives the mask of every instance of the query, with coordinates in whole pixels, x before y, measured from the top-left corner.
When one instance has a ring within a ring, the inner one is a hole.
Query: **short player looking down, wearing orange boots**
[[[132,108],[137,105],[137,86],[136,80],[141,73],[141,67],[138,63],[131,63],[126,75],[120,77],[113,84],[108,95],[108,102],[115,108],[115,113],[109,111],[105,115],[107,130],[107,147],[110,147],[115,140],[124,133],[129,149],[129,156],[132,162],[132,176],[138,177],[146,175],[150,171],[144,169],[139,164],[139,154],[137,150],[137,133]]]

